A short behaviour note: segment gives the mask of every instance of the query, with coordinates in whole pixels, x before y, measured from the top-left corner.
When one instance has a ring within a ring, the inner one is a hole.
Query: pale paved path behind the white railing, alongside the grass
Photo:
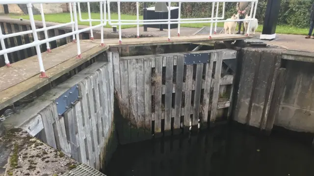
[[[29,25],[28,20],[20,21],[19,19],[12,19],[8,16],[0,16],[0,22],[12,22],[12,23],[20,23]],[[52,26],[59,24],[57,22],[47,22],[47,26]],[[42,22],[36,21],[36,26],[41,27]],[[86,28],[88,26],[86,25],[79,25],[79,28]],[[71,31],[71,26],[68,27],[62,27],[63,29],[67,29]],[[191,28],[191,27],[181,27],[181,36],[188,36],[192,35],[196,31],[198,31],[199,28]],[[94,29],[95,31],[95,39],[100,38],[100,29]],[[118,33],[112,33],[111,28],[104,28],[105,32],[105,38],[118,38]],[[156,28],[148,28],[147,32],[144,32],[143,27],[140,27],[140,36],[141,37],[153,37],[153,36],[167,36],[168,31],[167,29],[164,29],[164,31],[159,31],[159,29]],[[128,28],[128,29],[122,29],[122,35],[123,37],[136,37],[136,27]],[[177,36],[178,29],[171,30],[171,36]],[[261,33],[257,33],[256,36],[259,38]],[[314,52],[314,40],[313,39],[305,39],[305,36],[302,35],[287,35],[287,34],[278,34],[276,36],[276,39],[273,41],[265,41],[268,45],[272,46],[279,46],[282,48],[290,49],[290,50],[299,50],[299,51],[308,51],[308,52]]]

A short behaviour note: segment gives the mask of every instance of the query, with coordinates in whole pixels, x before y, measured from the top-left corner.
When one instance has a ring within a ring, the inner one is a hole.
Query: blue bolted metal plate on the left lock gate
[[[64,92],[61,96],[55,99],[58,115],[62,115],[78,100],[78,85]]]

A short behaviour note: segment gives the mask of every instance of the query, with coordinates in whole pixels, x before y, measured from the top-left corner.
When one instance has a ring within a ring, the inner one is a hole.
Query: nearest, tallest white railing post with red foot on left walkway
[[[27,3],[26,6],[27,6],[30,25],[31,25],[31,30],[33,31],[34,42],[36,43],[36,42],[38,42],[38,36],[37,36],[37,32],[36,32],[36,25],[35,25],[34,16],[33,16],[33,10],[31,9],[32,4]],[[40,51],[39,44],[37,44],[35,47],[36,47],[36,53],[37,53],[39,68],[40,68],[40,76],[39,77],[40,78],[48,78],[48,76],[46,75],[46,72],[45,72],[43,59],[41,57],[41,51]]]

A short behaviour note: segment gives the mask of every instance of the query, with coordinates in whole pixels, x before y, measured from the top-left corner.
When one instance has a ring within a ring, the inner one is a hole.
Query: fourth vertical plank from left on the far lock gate
[[[152,58],[144,59],[145,137],[152,137]]]

